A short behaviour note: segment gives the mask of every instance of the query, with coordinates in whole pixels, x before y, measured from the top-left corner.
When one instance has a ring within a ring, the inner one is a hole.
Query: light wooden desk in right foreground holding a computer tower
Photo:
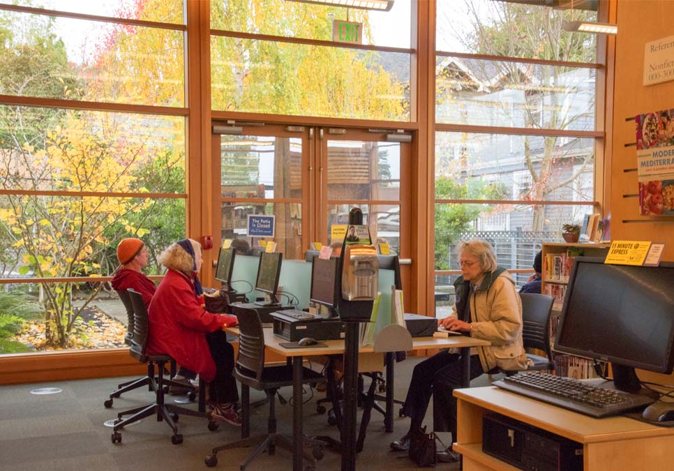
[[[482,416],[493,411],[583,444],[585,471],[674,471],[674,428],[627,417],[594,419],[497,387],[456,389],[458,430],[454,449],[463,470],[515,471],[482,452]]]

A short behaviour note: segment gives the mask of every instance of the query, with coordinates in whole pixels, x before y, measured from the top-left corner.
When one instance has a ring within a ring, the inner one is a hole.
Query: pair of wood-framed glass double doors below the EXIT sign
[[[304,260],[311,242],[340,241],[333,226],[360,207],[373,241],[410,257],[411,135],[230,122],[212,139],[214,244],[245,239],[255,249],[271,237],[250,237],[248,215],[274,215],[276,250]]]

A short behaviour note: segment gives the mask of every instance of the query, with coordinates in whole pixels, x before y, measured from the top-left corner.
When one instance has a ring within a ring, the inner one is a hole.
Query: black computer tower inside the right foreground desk
[[[527,471],[583,471],[583,444],[501,414],[482,419],[482,451]]]

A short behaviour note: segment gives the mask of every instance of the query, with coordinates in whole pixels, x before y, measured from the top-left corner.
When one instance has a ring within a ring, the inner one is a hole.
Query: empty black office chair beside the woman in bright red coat
[[[262,452],[267,451],[273,455],[276,447],[287,449],[292,453],[292,438],[276,433],[276,414],[275,397],[276,391],[281,387],[292,386],[292,366],[264,366],[264,331],[262,322],[254,309],[239,308],[237,311],[239,318],[239,354],[237,356],[237,366],[234,368],[234,377],[241,382],[241,440],[223,444],[211,451],[211,454],[204,458],[204,462],[209,467],[218,464],[218,451],[227,449],[250,447],[256,445],[255,449],[246,456],[241,463],[240,469],[245,470]],[[303,367],[304,368],[304,367]],[[321,375],[309,368],[304,368],[303,372],[305,384],[315,384],[321,379]],[[267,419],[267,433],[249,437],[250,434],[250,388],[264,391],[269,398],[269,418]],[[301,398],[300,398],[301,400]],[[304,440],[314,445],[313,456],[304,452],[304,458],[315,465],[316,459],[323,456],[322,442],[320,440]]]

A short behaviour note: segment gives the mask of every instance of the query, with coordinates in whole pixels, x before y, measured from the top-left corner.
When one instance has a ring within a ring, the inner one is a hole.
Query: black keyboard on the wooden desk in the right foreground
[[[493,384],[591,417],[624,414],[654,402],[647,396],[596,387],[585,381],[548,373],[518,373]]]

